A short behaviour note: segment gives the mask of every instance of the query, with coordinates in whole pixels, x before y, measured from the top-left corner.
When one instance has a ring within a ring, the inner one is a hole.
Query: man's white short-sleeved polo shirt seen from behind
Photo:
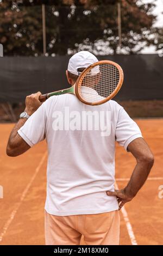
[[[142,135],[117,102],[89,106],[72,94],[52,96],[18,133],[30,147],[46,138],[45,209],[49,214],[99,214],[118,209],[116,197],[106,195],[115,189],[115,142],[127,150]]]

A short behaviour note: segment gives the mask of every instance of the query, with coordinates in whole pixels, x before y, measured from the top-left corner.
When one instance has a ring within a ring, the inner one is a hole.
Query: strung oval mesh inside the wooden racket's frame
[[[99,102],[117,88],[120,72],[113,64],[103,63],[87,70],[79,87],[79,94],[87,102]]]

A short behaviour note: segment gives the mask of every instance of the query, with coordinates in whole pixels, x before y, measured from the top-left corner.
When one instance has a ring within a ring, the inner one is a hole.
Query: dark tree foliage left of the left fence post
[[[40,54],[42,27],[40,8],[21,8],[7,1],[0,3],[0,42],[5,55]]]

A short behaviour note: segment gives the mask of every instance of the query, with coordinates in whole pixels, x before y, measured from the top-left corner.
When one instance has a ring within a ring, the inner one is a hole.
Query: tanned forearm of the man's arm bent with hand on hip
[[[137,164],[134,168],[133,174],[131,175],[130,181],[126,186],[125,190],[126,193],[129,194],[131,197],[135,197],[137,192],[145,183],[148,174],[153,166],[154,160],[137,160]]]

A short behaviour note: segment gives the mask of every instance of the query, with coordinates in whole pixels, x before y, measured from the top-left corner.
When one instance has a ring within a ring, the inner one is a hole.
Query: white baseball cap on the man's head
[[[88,51],[80,51],[70,58],[67,70],[79,76],[81,73],[78,71],[79,68],[87,68],[87,66],[96,62],[98,62],[98,59],[95,55]]]

